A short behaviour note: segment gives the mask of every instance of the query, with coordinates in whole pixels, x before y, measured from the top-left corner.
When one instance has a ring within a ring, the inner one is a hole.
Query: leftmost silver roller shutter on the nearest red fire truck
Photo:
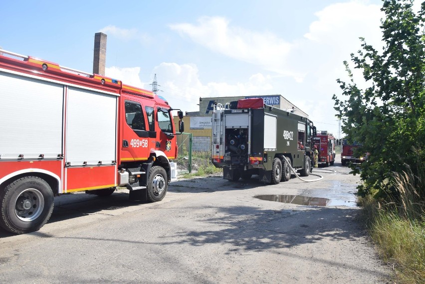
[[[0,71],[0,156],[62,153],[63,85]]]

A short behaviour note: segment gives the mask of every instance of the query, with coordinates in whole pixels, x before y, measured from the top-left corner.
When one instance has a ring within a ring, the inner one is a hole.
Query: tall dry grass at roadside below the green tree
[[[397,197],[381,203],[363,199],[368,231],[384,261],[393,264],[398,283],[425,283],[424,171],[415,176],[409,167],[394,173]]]

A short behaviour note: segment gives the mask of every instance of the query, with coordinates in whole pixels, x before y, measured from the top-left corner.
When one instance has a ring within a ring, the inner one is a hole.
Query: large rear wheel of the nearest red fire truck
[[[49,220],[53,201],[45,180],[21,177],[0,191],[0,226],[16,234],[38,231]]]

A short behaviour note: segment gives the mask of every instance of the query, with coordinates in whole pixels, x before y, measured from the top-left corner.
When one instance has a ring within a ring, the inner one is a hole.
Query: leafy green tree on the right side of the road
[[[351,54],[354,68],[362,70],[370,87],[356,85],[345,61],[350,79],[337,80],[345,99],[334,95],[334,108],[348,141],[361,142],[358,151],[370,153],[361,171],[353,167],[364,181],[359,193],[377,189],[378,196],[397,195],[394,172],[411,170],[424,198],[425,2],[418,13],[411,0],[384,0],[381,10],[382,52],[360,38],[361,49]]]

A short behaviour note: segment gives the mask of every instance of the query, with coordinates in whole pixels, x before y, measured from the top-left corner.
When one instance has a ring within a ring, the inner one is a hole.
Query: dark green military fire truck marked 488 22
[[[315,136],[310,120],[264,105],[261,98],[217,104],[212,162],[223,168],[223,179],[237,181],[258,175],[259,181],[278,184],[290,179],[289,166],[301,176],[310,174]]]

